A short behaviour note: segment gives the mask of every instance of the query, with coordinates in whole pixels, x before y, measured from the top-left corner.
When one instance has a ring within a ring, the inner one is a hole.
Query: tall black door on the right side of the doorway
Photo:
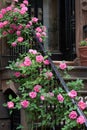
[[[59,44],[63,60],[76,57],[75,0],[59,0]]]

